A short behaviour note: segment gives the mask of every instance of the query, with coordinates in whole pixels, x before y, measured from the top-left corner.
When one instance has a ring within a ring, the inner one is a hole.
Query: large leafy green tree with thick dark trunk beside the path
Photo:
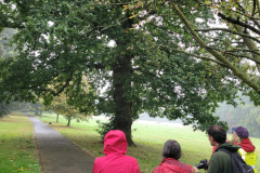
[[[157,9],[143,4],[151,8],[151,17],[134,2],[0,1],[0,26],[18,29],[13,40],[18,54],[0,64],[1,101],[49,102],[65,92],[80,111],[110,116],[112,129],[122,130],[130,145],[132,122],[143,111],[181,118],[194,129],[226,125],[211,112],[218,102],[235,104],[236,77],[219,61],[212,65],[207,57],[198,61],[180,52],[178,44],[191,37],[170,2],[161,1]],[[200,13],[212,16],[204,10],[188,19],[199,25]],[[144,21],[146,26],[140,27]],[[88,78],[88,92],[82,77]]]

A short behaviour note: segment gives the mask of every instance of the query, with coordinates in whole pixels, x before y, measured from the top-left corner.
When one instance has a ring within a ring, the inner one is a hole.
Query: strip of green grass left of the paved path
[[[0,119],[0,172],[40,173],[30,120],[14,112]]]

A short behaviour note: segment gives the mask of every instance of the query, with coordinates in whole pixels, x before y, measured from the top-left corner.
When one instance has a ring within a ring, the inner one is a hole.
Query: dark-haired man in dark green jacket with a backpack
[[[208,128],[207,133],[210,145],[217,147],[217,150],[213,152],[209,160],[207,173],[231,173],[231,156],[224,151],[218,150],[225,148],[230,151],[237,151],[240,146],[225,142],[226,132],[222,127],[211,125]]]

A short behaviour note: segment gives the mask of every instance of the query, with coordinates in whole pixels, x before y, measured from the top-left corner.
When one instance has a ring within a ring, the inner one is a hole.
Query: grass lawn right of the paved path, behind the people
[[[58,123],[55,122],[55,117],[52,114],[43,114],[41,120],[46,123],[51,121],[52,128],[93,156],[104,156],[103,143],[95,131],[94,119],[80,123],[72,121],[72,127],[66,127],[66,120],[62,116]],[[195,165],[202,159],[210,159],[212,147],[204,132],[194,132],[191,128],[142,123],[133,123],[132,129],[136,129],[132,135],[138,147],[129,147],[127,155],[136,158],[141,172],[152,172],[160,163],[161,149],[167,139],[176,139],[180,143],[183,152],[181,161],[184,163]],[[251,141],[257,152],[260,154],[260,138],[251,138]],[[257,161],[257,168],[260,171],[260,159]]]

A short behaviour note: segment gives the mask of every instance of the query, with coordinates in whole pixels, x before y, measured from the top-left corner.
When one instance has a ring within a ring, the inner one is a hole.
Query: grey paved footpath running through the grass
[[[42,173],[91,173],[94,159],[57,131],[27,115],[35,127]]]

